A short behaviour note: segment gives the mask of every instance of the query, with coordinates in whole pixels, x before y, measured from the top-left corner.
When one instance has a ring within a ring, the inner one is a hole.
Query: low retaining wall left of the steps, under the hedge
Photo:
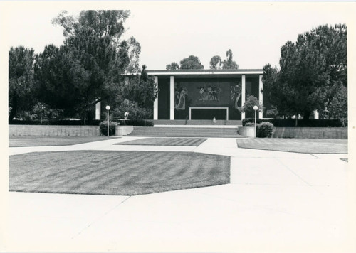
[[[100,136],[99,126],[9,125],[9,136]]]

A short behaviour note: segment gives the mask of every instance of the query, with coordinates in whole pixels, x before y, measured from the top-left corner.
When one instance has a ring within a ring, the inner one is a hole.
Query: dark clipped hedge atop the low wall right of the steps
[[[243,119],[242,126],[246,126],[247,123],[252,122],[253,119]],[[257,119],[257,123],[271,122],[276,127],[295,127],[295,119]],[[342,124],[342,119],[309,119],[303,121],[298,119],[298,127],[343,127],[347,126],[347,119]]]

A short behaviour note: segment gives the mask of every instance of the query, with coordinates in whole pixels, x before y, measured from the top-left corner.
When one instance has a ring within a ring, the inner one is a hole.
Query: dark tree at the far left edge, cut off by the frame
[[[33,81],[33,49],[22,45],[9,50],[9,121],[16,114],[31,107],[36,99],[36,85]]]

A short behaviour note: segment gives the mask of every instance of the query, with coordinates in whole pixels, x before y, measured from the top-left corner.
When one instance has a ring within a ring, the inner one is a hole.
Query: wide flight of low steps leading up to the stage
[[[208,138],[241,138],[236,128],[224,127],[145,127],[134,126],[127,136],[147,137],[208,137]]]

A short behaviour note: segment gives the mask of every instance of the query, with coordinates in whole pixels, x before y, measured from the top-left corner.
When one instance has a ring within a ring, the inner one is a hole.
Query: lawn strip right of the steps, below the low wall
[[[347,154],[347,139],[237,139],[237,146],[307,154]]]

